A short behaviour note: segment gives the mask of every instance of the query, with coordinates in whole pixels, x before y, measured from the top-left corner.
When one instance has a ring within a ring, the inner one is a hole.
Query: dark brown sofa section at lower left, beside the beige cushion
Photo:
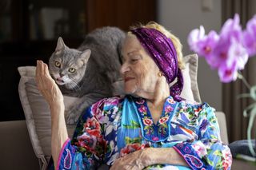
[[[1,169],[39,169],[26,121],[0,122],[0,136]]]

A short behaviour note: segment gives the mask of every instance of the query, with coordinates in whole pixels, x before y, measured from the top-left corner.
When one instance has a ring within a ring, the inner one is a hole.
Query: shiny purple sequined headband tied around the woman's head
[[[179,95],[182,93],[183,77],[181,70],[178,69],[177,52],[173,42],[160,31],[151,28],[137,28],[131,32],[150,53],[169,84],[177,77],[177,82],[170,87],[170,95],[175,100],[181,101]]]

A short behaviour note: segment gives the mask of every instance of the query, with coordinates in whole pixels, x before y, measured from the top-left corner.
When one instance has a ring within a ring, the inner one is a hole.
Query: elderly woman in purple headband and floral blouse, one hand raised
[[[123,44],[125,97],[105,98],[82,113],[70,140],[62,93],[38,61],[37,82],[52,117],[56,169],[230,169],[214,109],[185,101],[182,45],[150,22],[131,30]],[[177,80],[174,85],[169,84]]]

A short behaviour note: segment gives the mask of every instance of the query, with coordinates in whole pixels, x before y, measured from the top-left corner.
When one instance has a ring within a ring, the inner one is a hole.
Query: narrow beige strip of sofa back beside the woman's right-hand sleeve
[[[216,117],[218,118],[218,125],[221,131],[221,139],[224,144],[229,144],[227,130],[226,130],[226,116],[222,112],[215,112]]]

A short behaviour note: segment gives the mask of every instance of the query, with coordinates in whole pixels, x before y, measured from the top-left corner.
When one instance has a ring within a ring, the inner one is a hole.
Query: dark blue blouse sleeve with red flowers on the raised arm
[[[103,135],[110,117],[104,111],[105,104],[106,99],[98,101],[82,114],[73,140],[66,140],[62,146],[58,169],[94,169],[104,163],[107,152],[110,152]]]

